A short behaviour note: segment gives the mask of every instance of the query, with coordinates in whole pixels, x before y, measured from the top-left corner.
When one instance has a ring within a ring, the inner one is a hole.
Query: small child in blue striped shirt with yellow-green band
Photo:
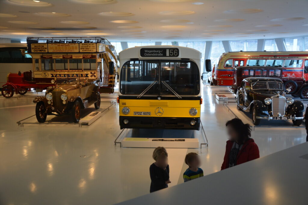
[[[189,166],[183,174],[184,182],[197,179],[203,176],[203,170],[200,167],[200,157],[196,152],[190,152],[185,157],[185,163]]]

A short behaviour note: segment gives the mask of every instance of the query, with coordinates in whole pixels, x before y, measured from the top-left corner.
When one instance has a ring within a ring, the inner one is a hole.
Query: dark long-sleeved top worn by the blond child
[[[166,170],[157,167],[154,163],[150,166],[151,186],[150,192],[158,191],[168,187],[166,181],[169,179],[169,165]]]

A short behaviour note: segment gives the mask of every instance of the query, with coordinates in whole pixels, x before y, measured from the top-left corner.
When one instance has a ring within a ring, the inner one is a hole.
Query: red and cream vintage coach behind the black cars
[[[233,69],[238,66],[282,68],[282,77],[308,79],[308,52],[228,52],[218,60],[211,82],[213,85],[233,84]]]

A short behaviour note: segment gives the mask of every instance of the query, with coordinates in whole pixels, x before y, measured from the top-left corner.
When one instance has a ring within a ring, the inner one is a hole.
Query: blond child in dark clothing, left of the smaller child
[[[168,187],[169,179],[168,153],[164,147],[157,147],[153,152],[155,162],[150,166],[150,192]]]

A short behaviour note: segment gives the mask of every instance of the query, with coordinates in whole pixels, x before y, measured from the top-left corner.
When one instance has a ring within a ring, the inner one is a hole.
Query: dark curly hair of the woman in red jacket
[[[226,127],[230,125],[233,127],[235,132],[238,133],[240,139],[238,140],[241,144],[244,143],[245,140],[247,140],[249,137],[251,137],[250,133],[250,125],[249,124],[244,124],[241,119],[238,118],[233,118],[232,120],[229,120],[226,123]]]

